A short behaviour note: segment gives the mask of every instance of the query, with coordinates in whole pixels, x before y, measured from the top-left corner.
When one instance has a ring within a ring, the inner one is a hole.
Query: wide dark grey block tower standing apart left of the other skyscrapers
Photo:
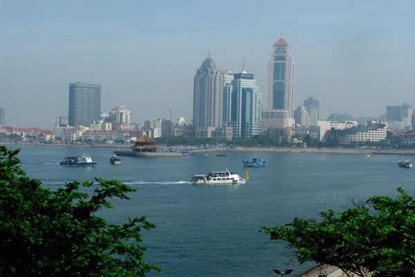
[[[69,125],[89,126],[100,120],[101,85],[75,82],[69,84]]]

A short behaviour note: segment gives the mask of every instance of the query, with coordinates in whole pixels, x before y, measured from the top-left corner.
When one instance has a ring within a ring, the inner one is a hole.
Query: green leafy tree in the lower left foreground
[[[19,150],[0,146],[0,276],[145,276],[145,216],[109,224],[96,213],[129,199],[119,181],[73,181],[51,191],[26,177]],[[90,194],[82,191],[89,190]]]

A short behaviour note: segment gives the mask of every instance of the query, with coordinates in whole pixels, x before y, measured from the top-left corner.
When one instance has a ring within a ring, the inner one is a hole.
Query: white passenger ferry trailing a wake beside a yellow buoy
[[[240,177],[235,172],[214,171],[207,175],[191,175],[193,184],[245,184],[249,177],[248,171],[245,178]]]

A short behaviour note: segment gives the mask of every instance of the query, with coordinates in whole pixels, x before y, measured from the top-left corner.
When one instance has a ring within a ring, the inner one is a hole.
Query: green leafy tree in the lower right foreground
[[[415,276],[415,201],[398,188],[394,199],[370,197],[340,213],[320,213],[321,220],[262,226],[270,240],[284,240],[300,263],[335,265],[347,276]]]

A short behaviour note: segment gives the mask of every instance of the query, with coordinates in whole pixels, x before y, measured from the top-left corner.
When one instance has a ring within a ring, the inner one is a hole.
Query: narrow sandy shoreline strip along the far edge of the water
[[[63,147],[91,147],[91,148],[131,148],[131,144],[94,144],[94,145],[71,145],[71,144],[29,144],[29,143],[0,143],[0,145],[28,145],[28,146],[63,146]],[[159,148],[181,148],[158,145]],[[320,153],[320,154],[393,154],[393,155],[415,155],[415,149],[377,149],[377,148],[275,148],[275,147],[235,147],[235,148],[209,148],[190,150],[189,152],[282,152],[282,153]]]

